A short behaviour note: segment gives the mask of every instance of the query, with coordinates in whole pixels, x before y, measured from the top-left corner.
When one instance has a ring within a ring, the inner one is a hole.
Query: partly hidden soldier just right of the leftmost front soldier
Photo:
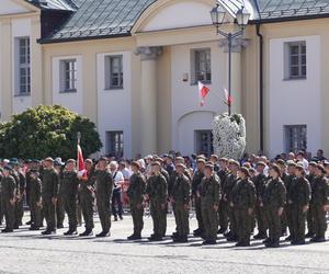
[[[12,162],[12,176],[16,182],[16,202],[15,202],[15,221],[14,221],[14,229],[18,229],[22,226],[22,219],[24,216],[24,194],[25,194],[25,185],[26,180],[25,175],[20,171],[20,162],[16,159]]]

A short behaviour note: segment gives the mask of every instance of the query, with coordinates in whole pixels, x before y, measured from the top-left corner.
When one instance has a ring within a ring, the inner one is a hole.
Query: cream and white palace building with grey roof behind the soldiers
[[[227,112],[217,3],[225,32],[250,13],[231,53],[248,151],[329,153],[329,0],[0,0],[1,121],[60,104],[97,124],[101,153],[211,153]]]

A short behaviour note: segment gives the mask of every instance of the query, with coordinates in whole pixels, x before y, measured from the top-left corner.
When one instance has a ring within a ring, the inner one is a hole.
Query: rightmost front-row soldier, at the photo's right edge
[[[315,237],[313,242],[326,241],[327,220],[326,212],[329,210],[329,183],[325,176],[326,170],[322,164],[317,164],[314,191],[311,194],[311,204],[314,206],[314,227]]]

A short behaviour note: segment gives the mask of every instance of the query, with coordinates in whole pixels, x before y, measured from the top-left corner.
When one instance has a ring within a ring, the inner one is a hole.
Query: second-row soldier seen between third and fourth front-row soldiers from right
[[[268,224],[266,224],[266,213],[263,205],[263,197],[266,187],[268,176],[264,174],[264,169],[266,164],[264,162],[258,162],[256,165],[257,176],[252,179],[256,187],[257,201],[256,201],[256,219],[258,225],[258,235],[254,239],[266,239],[268,238]]]

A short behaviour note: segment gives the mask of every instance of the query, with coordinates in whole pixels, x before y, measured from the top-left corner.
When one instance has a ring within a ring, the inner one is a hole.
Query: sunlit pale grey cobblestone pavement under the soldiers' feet
[[[146,217],[145,237],[151,225]],[[167,233],[173,229],[174,220],[169,216]],[[212,247],[202,247],[201,239],[193,237],[179,244],[169,237],[163,242],[132,242],[125,240],[132,232],[129,216],[113,222],[112,236],[105,239],[64,237],[66,230],[44,237],[25,226],[14,233],[0,233],[0,273],[329,273],[329,242],[282,243],[280,249],[264,249],[261,241],[235,248],[223,238]],[[97,222],[94,231],[99,230]]]

